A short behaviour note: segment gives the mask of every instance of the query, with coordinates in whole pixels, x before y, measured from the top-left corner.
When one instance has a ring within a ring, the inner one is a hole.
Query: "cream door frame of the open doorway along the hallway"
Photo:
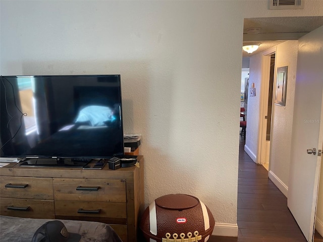
[[[258,126],[258,141],[257,141],[257,155],[256,163],[264,164],[266,155],[266,134],[267,134],[267,121],[264,116],[268,112],[268,89],[269,79],[271,72],[271,55],[277,52],[277,46],[267,49],[262,52],[261,56],[261,84],[260,84],[260,101],[259,101],[259,126]],[[274,86],[276,83],[276,61],[274,67]],[[273,106],[274,107],[274,106]],[[274,109],[272,111],[272,120],[274,120]],[[273,122],[272,122],[273,127]],[[272,132],[273,129],[271,129]],[[269,151],[270,152],[270,151]]]

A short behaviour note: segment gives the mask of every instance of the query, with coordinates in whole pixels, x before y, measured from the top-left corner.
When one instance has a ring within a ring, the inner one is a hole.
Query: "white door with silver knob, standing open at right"
[[[288,80],[287,80],[288,85]],[[288,207],[312,241],[323,144],[323,26],[298,43]],[[307,149],[316,148],[316,154]]]

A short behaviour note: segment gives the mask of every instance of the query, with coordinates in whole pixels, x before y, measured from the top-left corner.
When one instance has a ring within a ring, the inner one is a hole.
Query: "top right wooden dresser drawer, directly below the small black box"
[[[53,178],[55,200],[125,203],[124,179]]]

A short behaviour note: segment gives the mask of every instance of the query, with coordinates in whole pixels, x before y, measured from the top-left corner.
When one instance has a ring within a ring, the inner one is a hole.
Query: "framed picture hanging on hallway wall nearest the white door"
[[[287,71],[288,67],[277,68],[275,105],[286,105],[286,89],[287,89]]]

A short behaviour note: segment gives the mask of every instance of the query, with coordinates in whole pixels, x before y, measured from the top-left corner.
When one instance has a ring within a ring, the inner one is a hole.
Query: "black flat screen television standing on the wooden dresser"
[[[1,76],[0,84],[0,157],[79,167],[124,154],[120,75]]]

